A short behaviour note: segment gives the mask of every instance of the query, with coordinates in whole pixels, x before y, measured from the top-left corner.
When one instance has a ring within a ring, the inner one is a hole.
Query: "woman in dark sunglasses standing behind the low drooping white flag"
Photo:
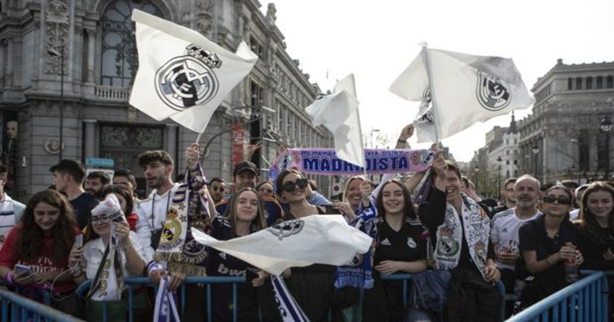
[[[286,207],[284,209],[286,220],[310,215],[341,214],[331,205],[309,204],[306,199],[306,187],[309,183],[298,172],[282,171],[277,178],[276,185],[276,193]],[[335,266],[313,264],[306,267],[292,267],[284,272],[285,277],[290,277],[288,283],[290,293],[311,321],[328,320],[328,312],[333,309],[335,269]]]

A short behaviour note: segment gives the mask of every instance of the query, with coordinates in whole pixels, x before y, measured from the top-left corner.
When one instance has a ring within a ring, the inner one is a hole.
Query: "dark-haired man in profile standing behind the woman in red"
[[[98,205],[98,201],[83,189],[85,169],[76,160],[63,159],[60,163],[49,168],[53,173],[55,190],[68,197],[74,209],[79,228],[84,229],[90,221],[91,210]]]

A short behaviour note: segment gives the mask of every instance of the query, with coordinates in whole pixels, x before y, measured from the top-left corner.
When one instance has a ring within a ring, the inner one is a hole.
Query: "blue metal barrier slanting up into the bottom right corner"
[[[592,272],[507,321],[605,322],[609,317],[607,292],[608,281],[604,272]]]

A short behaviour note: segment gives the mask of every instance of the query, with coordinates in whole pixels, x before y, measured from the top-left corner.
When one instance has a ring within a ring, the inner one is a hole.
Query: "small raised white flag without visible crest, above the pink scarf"
[[[365,150],[360,129],[358,99],[354,75],[338,81],[333,94],[316,99],[305,112],[313,126],[324,125],[335,136],[335,151],[338,158],[365,166]]]

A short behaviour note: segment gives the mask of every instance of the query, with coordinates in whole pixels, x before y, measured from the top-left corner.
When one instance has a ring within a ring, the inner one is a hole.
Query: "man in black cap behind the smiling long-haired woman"
[[[256,188],[258,182],[258,169],[256,165],[250,161],[238,163],[233,171],[233,183],[235,183],[236,191],[243,188]],[[231,196],[228,197],[230,199]],[[273,197],[261,196],[265,203],[266,225],[270,226],[278,218],[284,217],[284,211],[281,209],[279,202]],[[226,211],[228,200],[216,202],[216,212],[220,215]]]

